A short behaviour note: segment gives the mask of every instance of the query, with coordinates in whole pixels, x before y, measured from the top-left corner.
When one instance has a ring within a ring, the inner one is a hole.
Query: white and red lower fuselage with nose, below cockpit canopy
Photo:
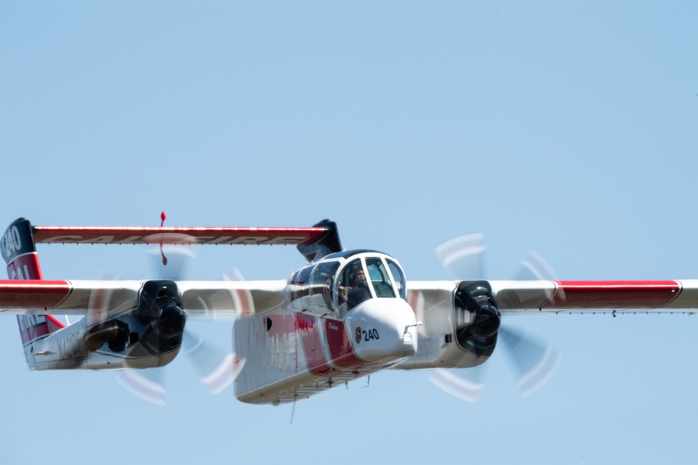
[[[367,301],[342,319],[283,311],[237,321],[235,350],[246,362],[235,380],[236,397],[252,404],[295,402],[413,356],[414,313],[404,300],[390,300]]]

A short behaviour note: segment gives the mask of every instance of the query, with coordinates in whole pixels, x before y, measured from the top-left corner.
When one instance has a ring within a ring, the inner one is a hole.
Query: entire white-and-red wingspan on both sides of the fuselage
[[[502,314],[696,312],[698,280],[490,281]],[[88,314],[91,299],[109,294],[107,312],[137,304],[144,281],[0,280],[0,314]],[[413,281],[415,309],[452,305],[455,281]],[[179,281],[184,311],[198,316],[245,316],[282,305],[286,281]],[[103,307],[103,306],[102,306]],[[104,308],[101,310],[105,311]]]

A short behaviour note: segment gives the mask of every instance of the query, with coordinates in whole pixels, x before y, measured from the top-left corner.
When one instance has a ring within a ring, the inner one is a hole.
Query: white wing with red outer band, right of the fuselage
[[[408,283],[417,311],[452,303],[457,281]],[[698,280],[489,281],[502,314],[698,311]]]

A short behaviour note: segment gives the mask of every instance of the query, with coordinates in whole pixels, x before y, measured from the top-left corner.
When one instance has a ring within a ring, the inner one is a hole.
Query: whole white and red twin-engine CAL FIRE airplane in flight
[[[329,220],[164,227],[161,218],[160,227],[10,224],[0,241],[10,277],[0,280],[0,313],[17,315],[29,369],[162,367],[179,353],[188,317],[235,317],[235,396],[279,405],[383,369],[482,365],[507,337],[503,315],[698,308],[698,280],[408,281],[394,257],[344,249]],[[307,264],[268,281],[43,280],[39,243],[151,244],[161,253],[170,244],[295,245]],[[66,326],[54,315],[82,319]]]

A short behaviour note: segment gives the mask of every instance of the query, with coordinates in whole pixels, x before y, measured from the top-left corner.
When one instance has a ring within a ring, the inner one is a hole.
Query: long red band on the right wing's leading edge
[[[557,281],[543,307],[660,308],[681,292],[676,281]]]

